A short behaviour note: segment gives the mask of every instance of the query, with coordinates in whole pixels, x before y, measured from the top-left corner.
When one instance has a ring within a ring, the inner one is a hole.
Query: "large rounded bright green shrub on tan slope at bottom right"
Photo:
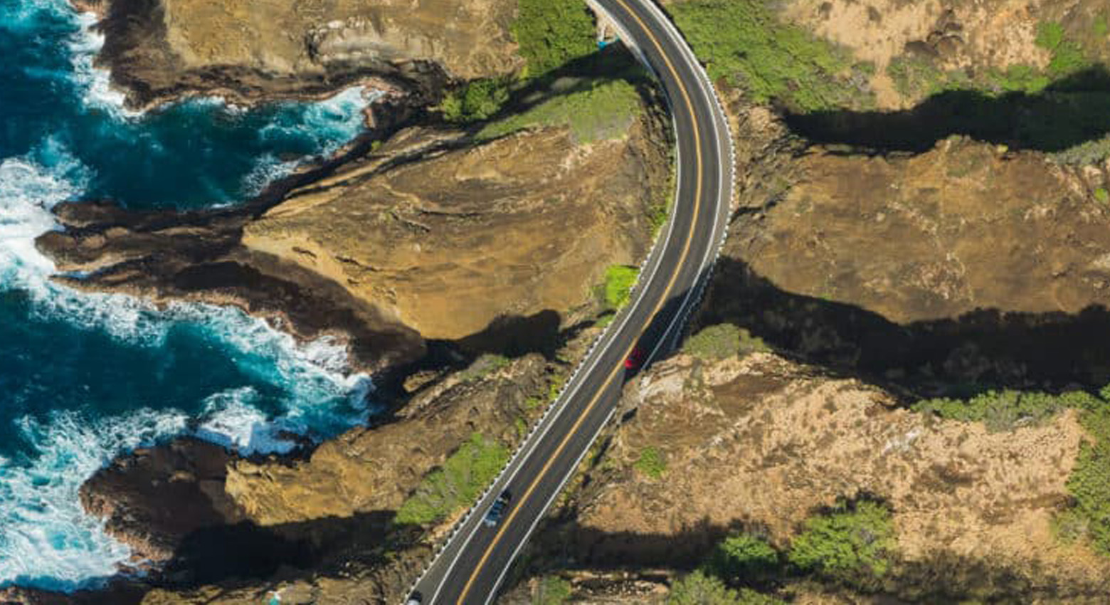
[[[855,586],[874,586],[890,569],[895,548],[890,511],[870,501],[841,503],[810,517],[790,545],[800,569]]]

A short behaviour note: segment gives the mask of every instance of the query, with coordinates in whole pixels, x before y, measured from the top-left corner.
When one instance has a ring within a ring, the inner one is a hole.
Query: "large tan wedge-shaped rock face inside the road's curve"
[[[665,171],[639,124],[591,145],[525,132],[379,174],[354,167],[293,192],[246,225],[243,244],[425,337],[463,339],[502,315],[573,309],[607,265],[637,262]]]

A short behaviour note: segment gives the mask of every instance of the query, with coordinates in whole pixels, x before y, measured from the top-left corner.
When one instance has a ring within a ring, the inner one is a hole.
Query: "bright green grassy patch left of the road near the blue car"
[[[394,522],[426,525],[468,506],[507,461],[508,448],[504,444],[474,433],[441,468],[424,476],[397,508]]]

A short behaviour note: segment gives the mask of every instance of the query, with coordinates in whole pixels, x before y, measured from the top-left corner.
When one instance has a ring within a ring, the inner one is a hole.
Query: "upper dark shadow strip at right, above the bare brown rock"
[[[953,90],[904,111],[788,113],[786,123],[816,143],[879,152],[922,152],[952,134],[1015,149],[1061,151],[1110,132],[1110,72],[1104,65],[1092,67],[1031,94]]]

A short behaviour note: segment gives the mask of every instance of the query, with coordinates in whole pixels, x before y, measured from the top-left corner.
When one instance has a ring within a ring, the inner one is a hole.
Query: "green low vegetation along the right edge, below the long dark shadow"
[[[995,431],[1013,430],[1042,422],[1066,410],[1079,411],[1090,435],[1080,448],[1068,477],[1072,505],[1057,520],[1057,533],[1064,540],[1088,540],[1110,556],[1110,387],[1098,395],[1072,391],[1059,395],[1016,391],[988,392],[970,400],[927,400],[914,410],[938,416],[982,422]]]

